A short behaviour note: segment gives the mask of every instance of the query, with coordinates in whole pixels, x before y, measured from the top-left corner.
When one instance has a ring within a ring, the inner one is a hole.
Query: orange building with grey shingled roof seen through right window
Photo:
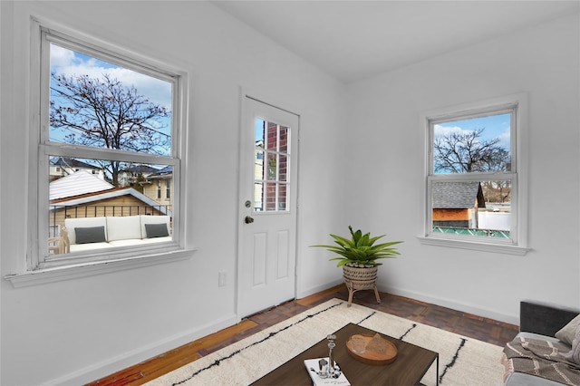
[[[434,182],[433,227],[478,227],[478,210],[486,203],[479,182]]]

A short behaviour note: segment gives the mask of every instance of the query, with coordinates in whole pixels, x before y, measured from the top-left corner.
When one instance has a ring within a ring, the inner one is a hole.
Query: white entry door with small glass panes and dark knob
[[[237,311],[295,298],[298,116],[249,97],[240,135]]]

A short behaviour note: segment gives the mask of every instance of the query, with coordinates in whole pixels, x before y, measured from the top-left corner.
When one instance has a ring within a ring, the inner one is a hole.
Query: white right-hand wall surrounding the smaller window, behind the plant
[[[348,87],[348,174],[357,227],[405,240],[380,288],[518,323],[535,299],[580,306],[578,14],[441,54]],[[421,245],[425,134],[421,111],[527,92],[526,256]],[[355,173],[356,172],[356,173]]]

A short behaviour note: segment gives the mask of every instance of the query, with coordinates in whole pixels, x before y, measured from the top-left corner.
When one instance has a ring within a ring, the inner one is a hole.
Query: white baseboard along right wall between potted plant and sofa
[[[411,299],[419,300],[420,302],[426,302],[430,304],[437,304],[442,307],[447,307],[452,310],[461,311],[468,314],[474,314],[478,316],[483,316],[486,318],[494,319],[500,322],[511,323],[519,325],[519,315],[510,315],[498,313],[497,311],[490,310],[488,308],[478,307],[473,304],[465,304],[456,302],[450,299],[445,299],[441,297],[434,297],[429,294],[422,294],[414,291],[406,291],[398,288],[392,288],[387,286],[378,285],[379,291],[386,292],[388,294],[396,294],[399,296],[409,297]]]

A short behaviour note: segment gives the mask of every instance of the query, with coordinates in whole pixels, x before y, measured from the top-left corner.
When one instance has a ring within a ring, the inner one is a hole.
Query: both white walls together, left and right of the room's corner
[[[353,224],[405,240],[403,256],[381,268],[381,287],[393,293],[507,321],[517,318],[521,298],[580,303],[577,15],[345,88],[205,3],[0,7],[0,170],[11,182],[0,191],[2,275],[21,266],[28,226],[21,208],[31,14],[189,72],[186,210],[188,243],[198,247],[189,260],[50,285],[14,289],[2,280],[0,383],[91,381],[235,321],[240,86],[301,115],[299,297],[340,282],[328,255],[308,246]],[[521,91],[530,95],[533,251],[499,256],[420,245],[420,111]],[[226,287],[218,287],[219,271]]]

